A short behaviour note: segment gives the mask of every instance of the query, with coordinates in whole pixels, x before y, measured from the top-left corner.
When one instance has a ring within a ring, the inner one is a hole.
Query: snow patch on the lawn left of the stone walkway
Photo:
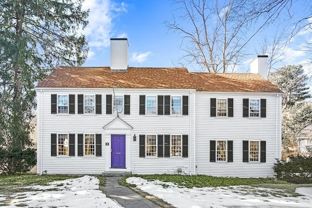
[[[52,182],[50,186],[24,187],[34,191],[14,193],[10,195],[14,198],[10,206],[2,206],[0,203],[0,207],[17,208],[23,205],[36,208],[122,208],[98,190],[98,183],[96,177],[86,175]],[[0,195],[1,200],[6,197]]]

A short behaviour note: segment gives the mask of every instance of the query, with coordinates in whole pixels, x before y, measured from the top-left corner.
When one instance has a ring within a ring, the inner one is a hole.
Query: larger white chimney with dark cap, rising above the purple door
[[[111,72],[128,71],[128,39],[111,38]]]

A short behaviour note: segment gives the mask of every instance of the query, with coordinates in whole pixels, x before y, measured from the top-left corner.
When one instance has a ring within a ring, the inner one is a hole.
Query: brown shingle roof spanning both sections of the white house
[[[58,67],[37,87],[196,89],[210,92],[281,93],[258,74],[189,73],[186,68]]]

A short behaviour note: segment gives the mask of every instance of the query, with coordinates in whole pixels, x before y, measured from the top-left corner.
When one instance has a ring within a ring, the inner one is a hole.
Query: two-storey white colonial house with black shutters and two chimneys
[[[128,67],[111,39],[110,67],[58,67],[37,86],[38,173],[273,176],[281,95],[267,56],[250,74]]]

